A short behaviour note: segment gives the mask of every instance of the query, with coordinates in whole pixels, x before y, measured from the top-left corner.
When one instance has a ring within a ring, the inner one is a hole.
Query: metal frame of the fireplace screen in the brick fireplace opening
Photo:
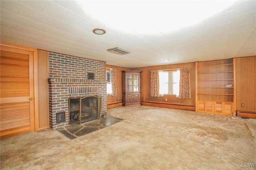
[[[88,97],[96,97],[96,100],[98,101],[98,109],[97,109],[97,119],[92,119],[92,120],[89,120],[89,121],[82,121],[82,118],[84,117],[89,117],[89,115],[87,115],[87,113],[82,114],[82,100],[85,99],[85,98],[88,98]],[[74,117],[72,117],[72,119],[70,119],[71,117],[71,114],[70,113],[70,101],[71,100],[79,100],[79,115],[76,114],[76,116],[78,117],[79,119],[79,123],[70,123],[70,120],[73,120]],[[90,122],[90,121],[95,121],[95,120],[99,120],[100,119],[100,111],[101,111],[101,97],[100,96],[96,96],[96,95],[88,95],[88,96],[85,96],[85,97],[74,97],[74,98],[68,98],[68,124],[69,125],[81,125],[83,123],[87,123],[87,122]]]

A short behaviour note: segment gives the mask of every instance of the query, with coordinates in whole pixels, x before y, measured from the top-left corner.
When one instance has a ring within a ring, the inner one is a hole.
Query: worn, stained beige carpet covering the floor
[[[52,129],[2,139],[1,169],[234,170],[256,164],[256,119],[148,106],[112,108],[108,115],[124,121],[73,140]]]

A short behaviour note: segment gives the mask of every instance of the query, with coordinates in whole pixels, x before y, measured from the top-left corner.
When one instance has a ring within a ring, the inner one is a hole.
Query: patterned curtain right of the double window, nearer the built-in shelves
[[[191,99],[190,68],[180,69],[179,99]]]

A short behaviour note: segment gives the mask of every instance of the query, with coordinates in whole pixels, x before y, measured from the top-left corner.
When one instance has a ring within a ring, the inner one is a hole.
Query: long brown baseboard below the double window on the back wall
[[[182,109],[182,110],[188,110],[188,111],[196,110],[195,106],[172,105],[172,104],[165,104],[165,103],[152,103],[152,102],[146,102],[146,101],[142,101],[141,104],[145,105],[145,106],[165,107],[165,108]]]

